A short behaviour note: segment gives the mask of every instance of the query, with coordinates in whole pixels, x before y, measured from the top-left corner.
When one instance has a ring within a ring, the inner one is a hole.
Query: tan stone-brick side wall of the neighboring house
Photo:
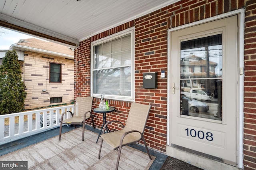
[[[24,52],[22,78],[26,86],[25,109],[71,103],[74,100],[74,61],[40,53]],[[62,65],[62,83],[49,83],[50,62]],[[43,93],[42,90],[47,92]],[[62,103],[51,103],[51,97],[62,97]]]

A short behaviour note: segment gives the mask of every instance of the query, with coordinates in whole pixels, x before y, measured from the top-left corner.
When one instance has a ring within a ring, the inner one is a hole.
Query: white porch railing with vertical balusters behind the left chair
[[[73,112],[73,110],[74,105],[67,105],[62,107],[52,107],[48,109],[0,115],[0,145],[11,142],[12,140],[17,140],[59,127],[60,121],[57,120],[60,120],[61,114],[65,111]],[[42,115],[41,117],[43,118],[41,122],[42,127],[40,127],[40,115]],[[66,115],[66,118],[70,117],[70,114]],[[24,121],[24,116],[27,117],[27,121]],[[7,126],[4,125],[5,119],[9,119],[9,125]],[[15,119],[18,119],[18,123],[15,123]]]

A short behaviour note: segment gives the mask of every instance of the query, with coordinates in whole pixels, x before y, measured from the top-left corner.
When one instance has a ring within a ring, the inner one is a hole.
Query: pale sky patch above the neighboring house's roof
[[[2,33],[2,31],[4,31],[4,33]],[[35,38],[35,37],[28,36],[26,34],[7,30],[0,27],[0,50],[9,49],[12,44],[18,43],[19,40],[26,39],[26,38]]]

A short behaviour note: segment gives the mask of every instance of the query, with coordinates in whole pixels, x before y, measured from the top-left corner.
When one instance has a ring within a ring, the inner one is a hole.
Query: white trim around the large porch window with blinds
[[[134,32],[135,32],[135,27],[132,27],[132,28],[128,28],[126,30],[123,30],[121,32],[118,32],[116,34],[113,34],[113,35],[110,35],[110,36],[107,36],[105,38],[101,38],[99,40],[96,40],[94,42],[91,42],[91,70],[90,70],[90,73],[91,73],[91,84],[90,84],[90,91],[91,91],[91,96],[92,97],[97,97],[97,98],[100,98],[101,94],[95,94],[93,93],[93,59],[94,59],[94,53],[93,53],[93,47],[95,45],[99,45],[101,43],[105,43],[105,42],[109,42],[111,40],[114,40],[116,38],[119,38],[121,36],[124,36],[126,34],[130,34],[131,35],[131,97],[126,97],[126,96],[118,96],[118,95],[105,95],[105,99],[113,99],[113,100],[122,100],[122,101],[134,101],[134,39],[135,39],[135,35],[134,35]]]

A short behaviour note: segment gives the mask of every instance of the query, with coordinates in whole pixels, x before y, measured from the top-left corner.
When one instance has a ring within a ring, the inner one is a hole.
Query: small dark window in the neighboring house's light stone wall
[[[61,64],[50,63],[50,83],[61,83]]]

